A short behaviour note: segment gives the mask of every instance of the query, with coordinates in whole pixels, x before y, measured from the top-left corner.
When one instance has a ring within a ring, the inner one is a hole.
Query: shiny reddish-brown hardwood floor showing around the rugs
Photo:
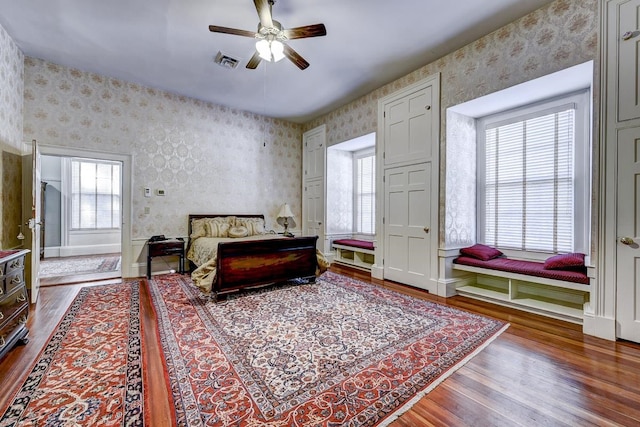
[[[392,426],[638,426],[640,345],[585,336],[581,326],[465,297],[439,298],[419,289],[370,279],[357,270],[333,271],[418,298],[503,319],[511,326]],[[42,288],[29,319],[30,343],[0,361],[0,408],[27,375],[49,335],[82,286]],[[141,279],[144,283],[144,280]],[[171,403],[149,295],[142,295],[151,427],[170,425]]]

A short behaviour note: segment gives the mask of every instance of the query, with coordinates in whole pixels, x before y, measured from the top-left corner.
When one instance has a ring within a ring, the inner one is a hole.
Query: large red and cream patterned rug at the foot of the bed
[[[508,325],[324,273],[214,304],[149,281],[178,425],[386,425]]]

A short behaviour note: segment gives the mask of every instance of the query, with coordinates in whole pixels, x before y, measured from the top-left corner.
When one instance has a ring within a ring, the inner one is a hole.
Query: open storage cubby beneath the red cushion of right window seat
[[[589,303],[590,285],[532,276],[527,280],[522,274],[497,270],[493,274],[464,265],[455,265],[454,269],[476,273],[469,284],[456,289],[459,295],[470,298],[579,324]]]

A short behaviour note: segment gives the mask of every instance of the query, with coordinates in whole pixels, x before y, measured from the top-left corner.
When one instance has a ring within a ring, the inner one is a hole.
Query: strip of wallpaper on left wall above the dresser
[[[0,248],[20,246],[22,221],[22,92],[24,55],[0,26]]]

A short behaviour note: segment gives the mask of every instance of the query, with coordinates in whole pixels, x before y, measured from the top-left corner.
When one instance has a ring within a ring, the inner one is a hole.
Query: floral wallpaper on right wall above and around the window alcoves
[[[378,100],[425,77],[441,73],[440,128],[440,247],[455,247],[459,237],[475,234],[469,221],[458,218],[453,191],[447,188],[447,108],[489,93],[595,60],[594,111],[599,110],[599,16],[597,0],[556,0],[499,30],[381,88],[306,123],[304,131],[327,126],[329,146],[377,131]],[[594,135],[598,135],[594,114]],[[598,141],[594,140],[594,159]],[[597,169],[597,161],[594,161]],[[598,176],[594,170],[594,177]],[[594,186],[595,188],[596,186]],[[594,209],[597,211],[597,209]],[[595,215],[594,215],[595,217]],[[594,224],[597,218],[593,218]],[[446,229],[445,229],[446,228]],[[595,227],[592,227],[595,230]],[[472,234],[473,233],[473,234]],[[453,240],[451,240],[453,239]],[[595,240],[595,233],[594,239]]]

